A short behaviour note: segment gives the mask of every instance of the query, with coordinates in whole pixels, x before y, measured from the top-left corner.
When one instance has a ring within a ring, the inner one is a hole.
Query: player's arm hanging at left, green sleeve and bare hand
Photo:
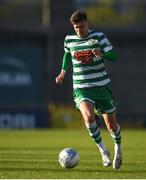
[[[69,52],[64,52],[62,68],[60,74],[56,77],[56,83],[61,84],[65,78],[66,71],[71,62],[71,54]]]

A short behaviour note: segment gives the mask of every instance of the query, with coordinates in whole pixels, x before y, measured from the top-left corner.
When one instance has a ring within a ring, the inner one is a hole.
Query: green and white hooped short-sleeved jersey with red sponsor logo
[[[104,86],[110,82],[104,60],[93,53],[96,49],[108,52],[112,45],[102,32],[89,31],[85,38],[67,35],[64,50],[71,53],[73,64],[73,88]]]

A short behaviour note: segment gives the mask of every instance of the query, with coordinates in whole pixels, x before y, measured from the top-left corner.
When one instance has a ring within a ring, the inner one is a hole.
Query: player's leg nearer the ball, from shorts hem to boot
[[[99,148],[99,151],[101,152],[103,165],[105,167],[111,165],[109,152],[102,141],[100,129],[95,121],[94,104],[90,101],[82,101],[80,103],[79,109],[85,121],[85,125],[89,132],[89,135],[95,141]]]

